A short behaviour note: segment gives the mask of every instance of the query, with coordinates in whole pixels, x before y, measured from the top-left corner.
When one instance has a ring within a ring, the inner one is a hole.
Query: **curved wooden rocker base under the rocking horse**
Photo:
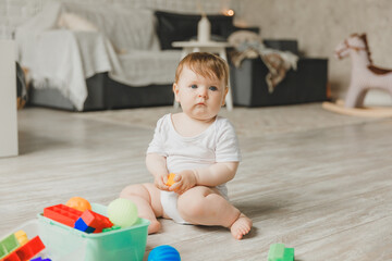
[[[336,102],[322,102],[322,108],[348,115],[348,116],[362,116],[362,117],[392,117],[392,108],[388,107],[363,107],[363,108],[346,108],[343,100],[336,100]]]

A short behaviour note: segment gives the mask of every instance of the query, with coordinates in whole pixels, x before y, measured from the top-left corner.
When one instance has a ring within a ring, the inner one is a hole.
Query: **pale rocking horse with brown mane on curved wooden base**
[[[354,34],[339,44],[335,49],[339,59],[351,57],[352,75],[348,91],[343,102],[324,102],[324,109],[358,116],[392,116],[392,108],[364,108],[365,96],[370,89],[387,90],[392,95],[392,70],[372,64],[366,34]]]

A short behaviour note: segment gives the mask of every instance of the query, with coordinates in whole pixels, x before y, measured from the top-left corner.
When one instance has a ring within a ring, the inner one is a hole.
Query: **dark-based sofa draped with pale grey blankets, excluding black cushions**
[[[28,104],[72,111],[173,103],[181,58],[162,50],[155,13],[97,4],[50,3],[16,30],[29,70]]]

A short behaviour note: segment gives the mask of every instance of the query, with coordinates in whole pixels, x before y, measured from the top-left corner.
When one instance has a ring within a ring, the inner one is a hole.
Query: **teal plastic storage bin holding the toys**
[[[93,211],[107,215],[107,208],[91,203]],[[64,260],[143,260],[147,244],[148,220],[131,227],[87,234],[38,214],[39,237],[50,253]]]

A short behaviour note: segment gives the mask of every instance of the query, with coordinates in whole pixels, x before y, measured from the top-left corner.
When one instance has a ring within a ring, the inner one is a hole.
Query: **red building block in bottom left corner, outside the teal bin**
[[[0,261],[27,261],[45,248],[39,236],[33,237],[28,243],[19,247]]]

